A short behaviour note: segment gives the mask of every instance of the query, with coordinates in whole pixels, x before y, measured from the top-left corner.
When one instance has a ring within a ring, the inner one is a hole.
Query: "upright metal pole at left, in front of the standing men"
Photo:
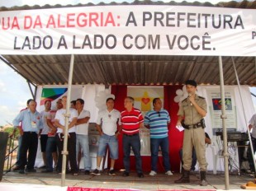
[[[61,186],[65,186],[65,177],[66,177],[66,163],[67,163],[67,155],[69,155],[69,151],[67,151],[68,147],[68,130],[69,130],[69,108],[70,108],[70,96],[71,96],[71,86],[72,86],[72,78],[73,78],[73,61],[74,56],[71,54],[70,64],[69,64],[69,86],[68,86],[68,95],[67,95],[67,108],[65,114],[65,131],[64,131],[64,147],[62,151],[62,170],[61,170]]]

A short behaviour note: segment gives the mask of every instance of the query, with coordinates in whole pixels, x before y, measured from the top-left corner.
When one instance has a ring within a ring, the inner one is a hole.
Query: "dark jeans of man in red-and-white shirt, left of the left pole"
[[[46,142],[46,170],[53,171],[53,156],[52,153],[56,151],[57,143],[55,137],[48,137]]]

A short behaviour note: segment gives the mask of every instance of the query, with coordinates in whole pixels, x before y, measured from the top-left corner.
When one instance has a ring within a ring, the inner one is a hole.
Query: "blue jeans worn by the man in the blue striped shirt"
[[[169,141],[168,137],[164,138],[150,138],[150,150],[151,150],[151,170],[157,171],[157,162],[159,159],[159,147],[161,148],[163,155],[164,170],[167,172],[171,170],[169,159]]]

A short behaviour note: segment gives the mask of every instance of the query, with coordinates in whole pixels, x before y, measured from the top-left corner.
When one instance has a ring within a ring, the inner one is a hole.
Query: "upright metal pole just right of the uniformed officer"
[[[221,116],[222,119],[222,133],[223,133],[223,148],[224,148],[224,165],[225,165],[225,190],[230,189],[230,178],[229,178],[229,167],[228,167],[228,160],[229,160],[229,153],[227,151],[227,136],[226,136],[226,126],[225,126],[225,91],[224,91],[224,77],[223,77],[223,68],[222,68],[222,58],[219,56],[219,69],[220,69],[220,95],[221,95]]]

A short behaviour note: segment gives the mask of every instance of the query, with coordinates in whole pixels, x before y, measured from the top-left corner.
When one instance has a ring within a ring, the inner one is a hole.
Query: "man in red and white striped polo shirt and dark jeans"
[[[135,154],[136,171],[139,178],[143,178],[141,156],[140,156],[140,135],[139,129],[144,127],[144,119],[140,109],[134,108],[134,98],[127,96],[125,99],[126,110],[121,112],[121,124],[123,132],[124,165],[126,171],[123,176],[130,173],[130,147]]]

